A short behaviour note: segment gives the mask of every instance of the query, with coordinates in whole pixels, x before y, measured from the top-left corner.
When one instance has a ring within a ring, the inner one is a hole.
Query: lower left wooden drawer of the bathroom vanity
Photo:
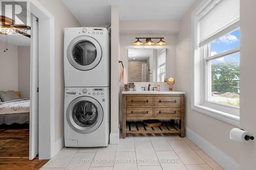
[[[126,117],[153,117],[153,108],[137,107],[126,108]]]

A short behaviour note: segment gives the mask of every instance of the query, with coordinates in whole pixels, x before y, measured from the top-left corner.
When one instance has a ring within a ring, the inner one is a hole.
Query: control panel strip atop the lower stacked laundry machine
[[[81,88],[65,88],[65,96],[104,96],[103,88],[89,88],[89,87],[81,87]]]

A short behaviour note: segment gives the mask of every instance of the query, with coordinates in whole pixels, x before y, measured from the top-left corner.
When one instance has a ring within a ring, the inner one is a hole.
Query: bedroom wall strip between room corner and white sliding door
[[[21,98],[30,97],[30,46],[18,46],[18,90]]]

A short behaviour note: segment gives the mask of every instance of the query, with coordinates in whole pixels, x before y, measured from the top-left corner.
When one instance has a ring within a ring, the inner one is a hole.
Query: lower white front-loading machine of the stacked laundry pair
[[[110,88],[65,88],[65,146],[105,147],[110,135]]]

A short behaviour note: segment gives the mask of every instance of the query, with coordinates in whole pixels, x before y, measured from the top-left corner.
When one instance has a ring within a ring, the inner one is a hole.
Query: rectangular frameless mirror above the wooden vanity
[[[168,75],[168,49],[128,49],[128,82],[164,82]]]

